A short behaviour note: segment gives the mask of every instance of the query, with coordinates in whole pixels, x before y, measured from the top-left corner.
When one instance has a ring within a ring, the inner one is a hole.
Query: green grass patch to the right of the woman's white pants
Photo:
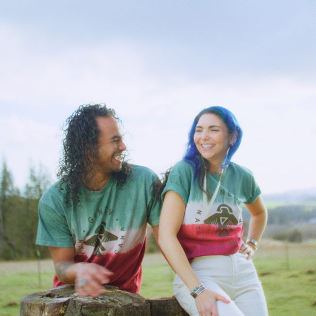
[[[254,259],[270,316],[316,315],[316,257]]]

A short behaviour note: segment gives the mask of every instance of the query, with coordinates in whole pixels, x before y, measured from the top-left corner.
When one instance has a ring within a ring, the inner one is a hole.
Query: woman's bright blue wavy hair
[[[226,124],[228,127],[228,133],[234,133],[234,143],[229,149],[228,156],[226,158],[225,164],[223,167],[227,167],[231,162],[230,159],[238,149],[240,142],[243,137],[243,131],[237,122],[237,119],[235,116],[225,107],[222,106],[211,106],[203,109],[200,113],[197,114],[195,117],[192,127],[189,132],[189,141],[187,143],[186,151],[183,156],[183,160],[188,162],[194,170],[194,179],[203,173],[204,176],[204,170],[205,170],[205,162],[202,158],[201,154],[198,152],[193,137],[195,133],[195,128],[198,120],[203,114],[216,114],[221,118],[221,120]],[[224,163],[224,162],[223,162]]]

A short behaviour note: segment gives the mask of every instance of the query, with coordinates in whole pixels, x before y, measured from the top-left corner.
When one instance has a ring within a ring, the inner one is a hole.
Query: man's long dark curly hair
[[[57,176],[62,180],[61,190],[66,190],[67,203],[72,201],[74,206],[80,202],[79,195],[84,182],[91,181],[91,177],[87,177],[97,159],[100,135],[97,117],[113,117],[121,123],[115,111],[105,104],[80,105],[65,123],[65,138]],[[113,173],[112,177],[122,186],[130,170],[130,165],[123,160],[121,171]]]

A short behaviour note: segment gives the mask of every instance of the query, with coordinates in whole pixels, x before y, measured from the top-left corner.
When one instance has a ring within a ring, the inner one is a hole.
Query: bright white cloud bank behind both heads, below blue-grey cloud
[[[89,102],[116,109],[131,158],[157,173],[182,157],[199,110],[226,106],[244,129],[235,160],[254,171],[265,193],[314,185],[314,177],[293,177],[293,166],[315,171],[315,76],[254,71],[192,78],[156,64],[136,42],[59,46],[29,32],[0,25],[5,48],[0,51],[0,133],[5,135],[0,145],[18,185],[25,183],[30,159],[55,174],[59,126]],[[194,65],[188,67],[194,71]]]

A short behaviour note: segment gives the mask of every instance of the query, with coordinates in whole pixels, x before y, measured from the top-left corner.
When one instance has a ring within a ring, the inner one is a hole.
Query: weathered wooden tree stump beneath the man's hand
[[[175,297],[143,298],[105,285],[98,298],[79,297],[73,285],[30,294],[20,300],[20,316],[187,316]]]

